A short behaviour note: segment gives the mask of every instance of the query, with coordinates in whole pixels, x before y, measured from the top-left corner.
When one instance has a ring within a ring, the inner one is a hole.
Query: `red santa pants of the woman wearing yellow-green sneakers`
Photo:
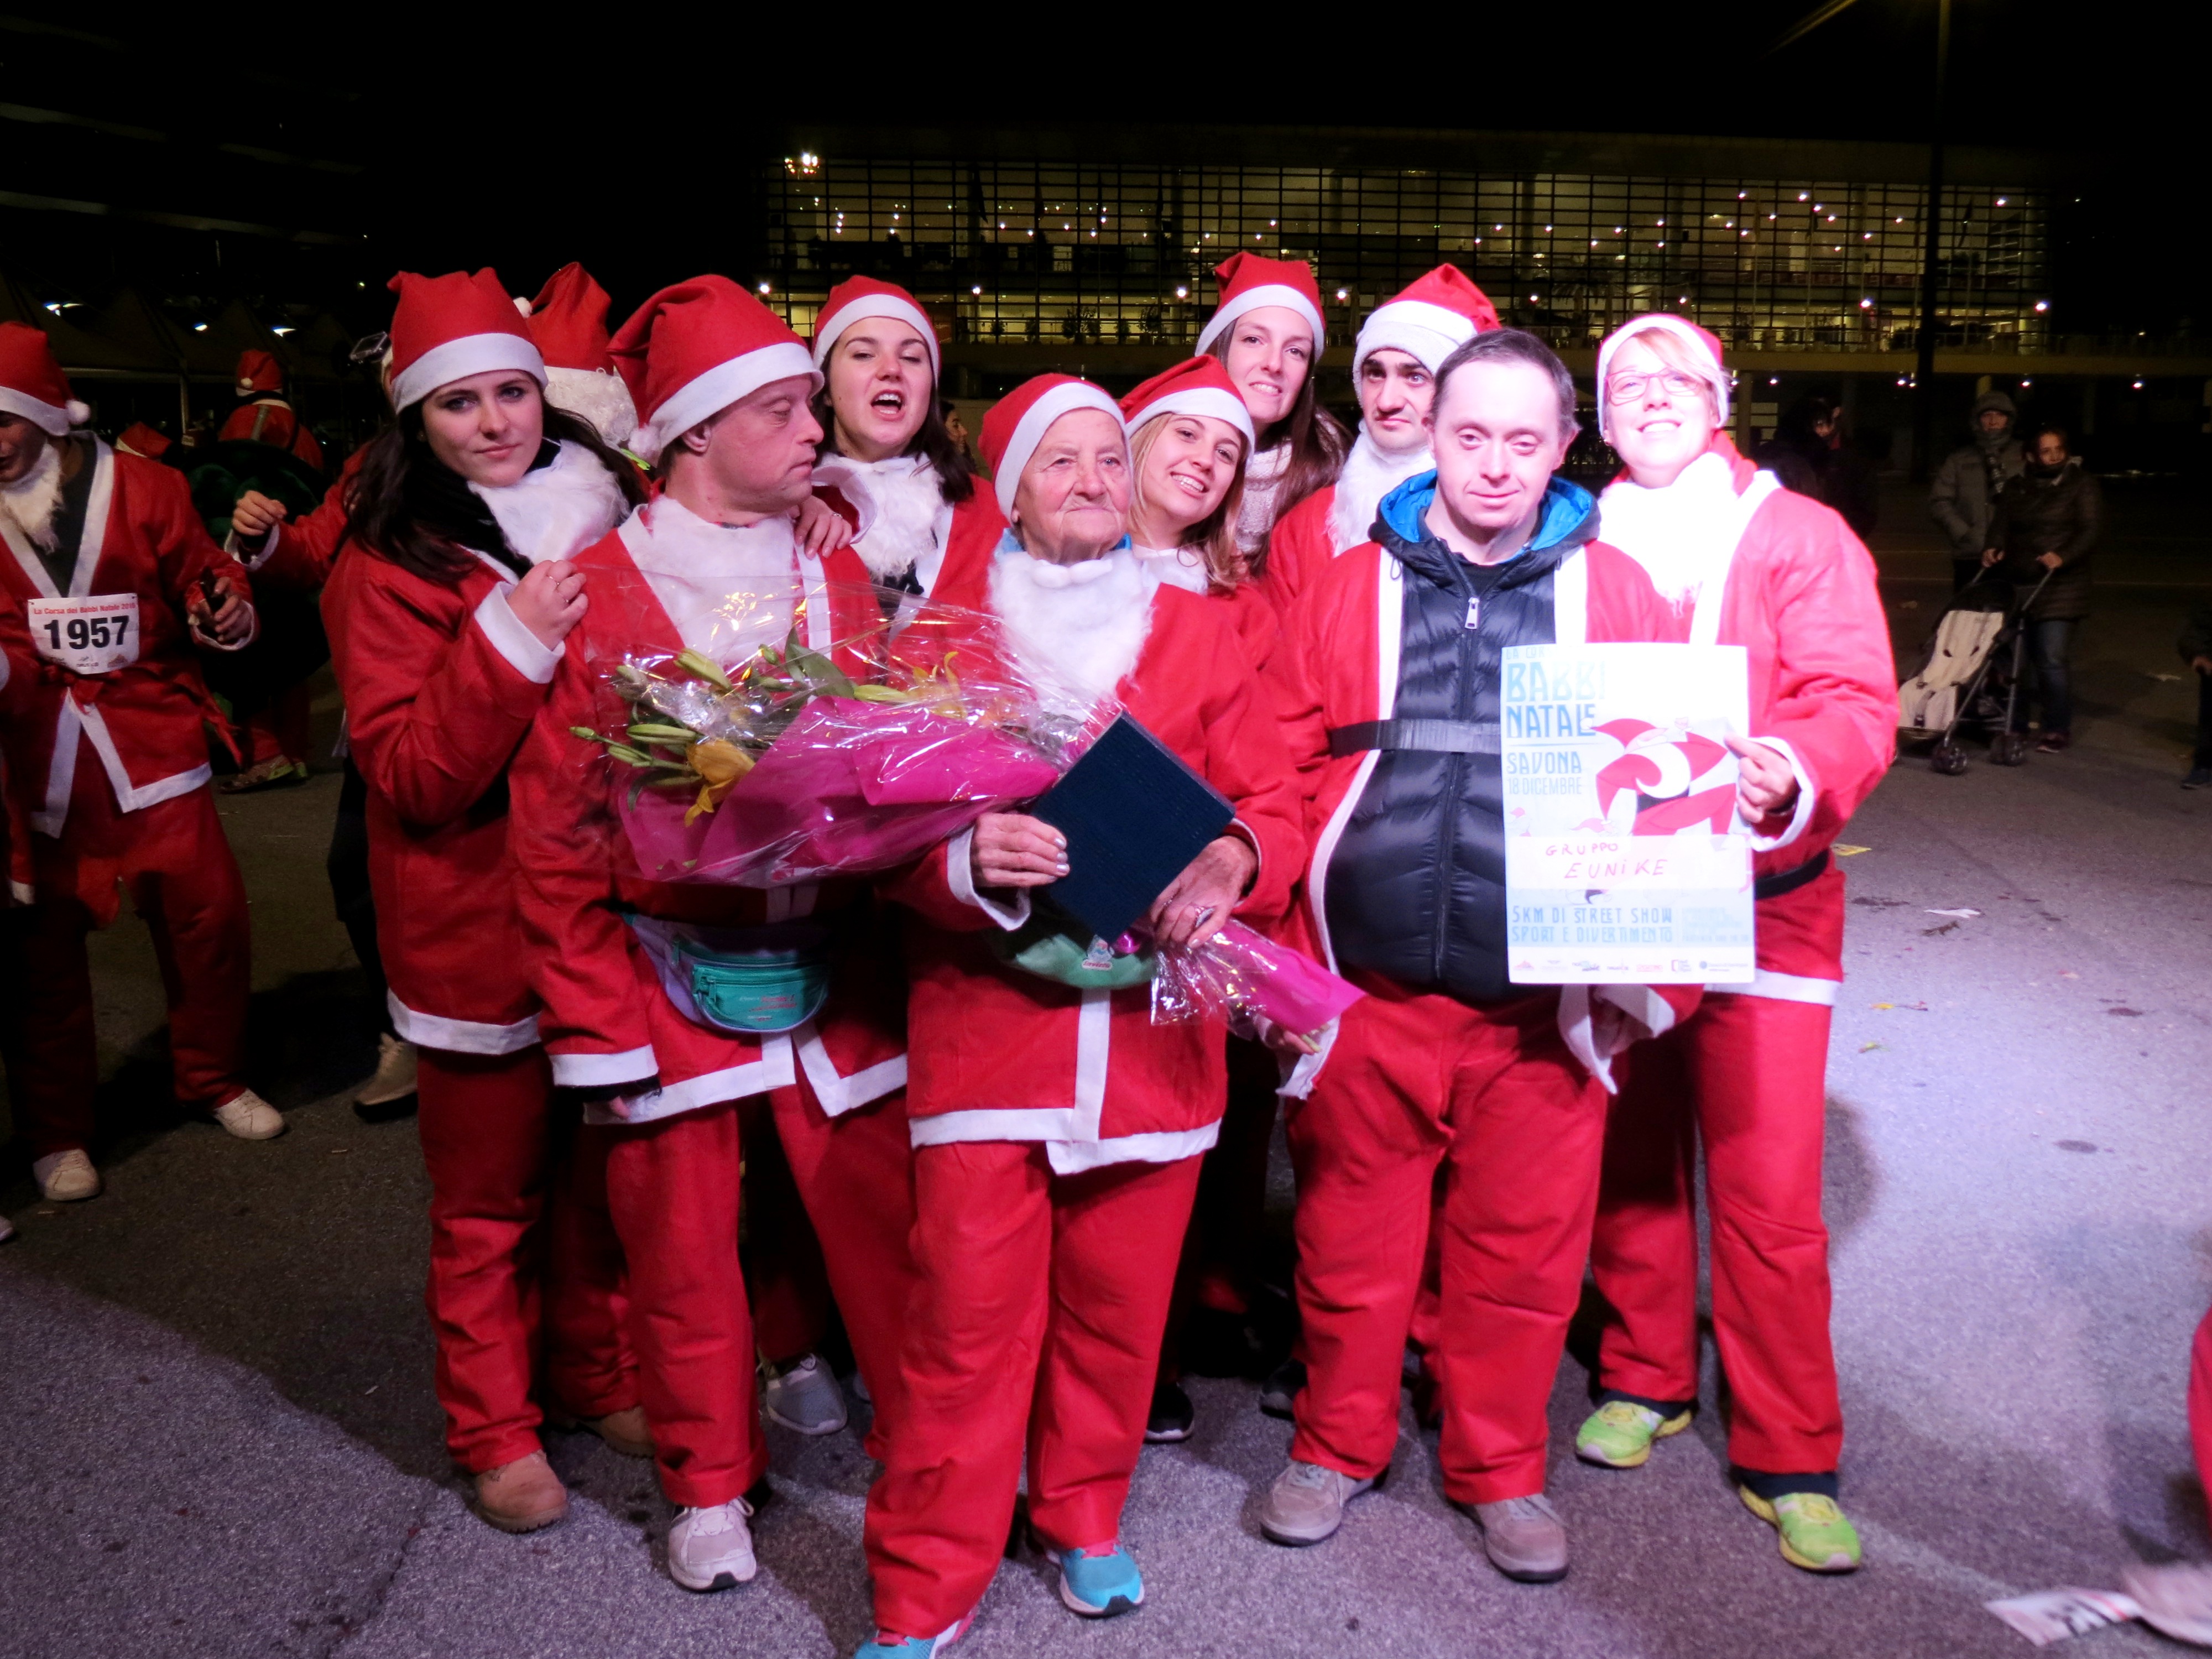
[[[1712,1325],[1734,1400],[1728,1455],[1772,1475],[1829,1473],[1843,1455],[1820,1221],[1827,1026],[1818,1002],[1717,991],[1683,1026],[1637,1044],[1606,1128],[1590,1248],[1615,1312],[1599,1383],[1694,1400],[1692,1133],[1703,1139]]]

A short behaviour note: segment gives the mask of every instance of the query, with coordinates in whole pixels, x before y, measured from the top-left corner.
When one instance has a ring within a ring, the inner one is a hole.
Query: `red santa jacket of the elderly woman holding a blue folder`
[[[998,555],[1026,557],[1018,546]],[[1281,730],[1230,606],[1157,580],[1144,586],[1150,630],[1115,695],[1237,807],[1259,852],[1237,914],[1267,925],[1303,852]],[[978,894],[969,845],[971,834],[956,836],[887,887],[918,918],[907,929],[914,1144],[1046,1141],[1064,1172],[1212,1146],[1228,1091],[1219,1026],[1155,1026],[1148,984],[1084,991],[1000,960],[991,938],[1026,922],[1029,902],[1006,909]]]

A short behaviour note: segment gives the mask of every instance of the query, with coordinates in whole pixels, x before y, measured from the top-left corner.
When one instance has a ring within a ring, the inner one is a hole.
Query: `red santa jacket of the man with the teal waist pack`
[[[750,538],[745,546],[754,553],[772,544],[785,580],[810,595],[805,637],[812,648],[830,650],[880,624],[858,555],[852,549],[821,560],[801,553],[787,520],[728,531],[661,495],[575,555],[591,608],[568,635],[551,697],[515,757],[511,858],[553,1079],[613,1088],[659,1077],[659,1088],[633,1097],[624,1115],[593,1108],[595,1121],[653,1121],[743,1099],[790,1086],[799,1068],[830,1115],[907,1082],[894,947],[876,931],[869,887],[838,880],[763,891],[648,880],[617,814],[628,768],[615,768],[571,730],[608,730],[619,703],[611,703],[602,681],[624,653],[703,648],[684,630],[692,613],[684,619],[670,613],[668,577],[690,571],[706,582],[710,566],[690,555],[712,555],[723,546],[714,538]],[[726,597],[721,588],[699,593],[706,604],[719,597]],[[781,641],[792,608],[790,599],[768,599],[770,611],[776,604],[781,619],[765,635]],[[849,942],[823,1011],[790,1033],[761,1037],[679,1013],[626,916],[710,927],[834,918],[849,929]]]

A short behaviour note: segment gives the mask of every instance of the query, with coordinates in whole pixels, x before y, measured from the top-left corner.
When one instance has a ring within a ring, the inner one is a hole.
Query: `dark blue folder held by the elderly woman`
[[[1108,945],[1237,816],[1128,714],[1117,714],[1029,812],[1068,838],[1068,874],[1044,894]]]

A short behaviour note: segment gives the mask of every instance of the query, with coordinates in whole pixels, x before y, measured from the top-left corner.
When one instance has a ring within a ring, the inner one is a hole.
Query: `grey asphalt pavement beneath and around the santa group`
[[[1971,745],[1955,779],[1907,757],[1847,834],[1865,852],[1845,860],[1827,1219],[1867,1568],[1778,1559],[1725,1482],[1714,1409],[1644,1471],[1577,1464],[1573,1358],[1553,1400],[1564,1584],[1489,1568],[1411,1413],[1387,1491],[1283,1551],[1252,1515],[1287,1427],[1248,1383],[1197,1380],[1197,1436],[1146,1451],[1126,1520],[1144,1610],[1082,1624],[1015,1557],[956,1652],[2024,1655],[1984,1599],[2212,1555],[2183,1422],[2212,1301],[2212,792],[2174,787],[2194,686],[2172,650],[2212,597],[2212,542],[2179,484],[2110,491],[2075,750],[2002,770]],[[1902,484],[1885,522],[1916,657],[1949,566]],[[334,714],[325,697],[321,752]],[[363,1126],[343,1097],[372,1035],[323,880],[336,790],[223,807],[254,896],[257,1082],[292,1130],[248,1146],[177,1119],[126,916],[95,940],[106,1197],[44,1206],[20,1157],[0,1166],[22,1232],[0,1248],[0,1655],[852,1652],[872,1473],[852,1431],[772,1431],[761,1577],[712,1597],[666,1577],[650,1469],[593,1438],[549,1440],[566,1524],[504,1537],[462,1509],[414,1126]],[[2073,1646],[2174,1650],[2132,1628]]]

